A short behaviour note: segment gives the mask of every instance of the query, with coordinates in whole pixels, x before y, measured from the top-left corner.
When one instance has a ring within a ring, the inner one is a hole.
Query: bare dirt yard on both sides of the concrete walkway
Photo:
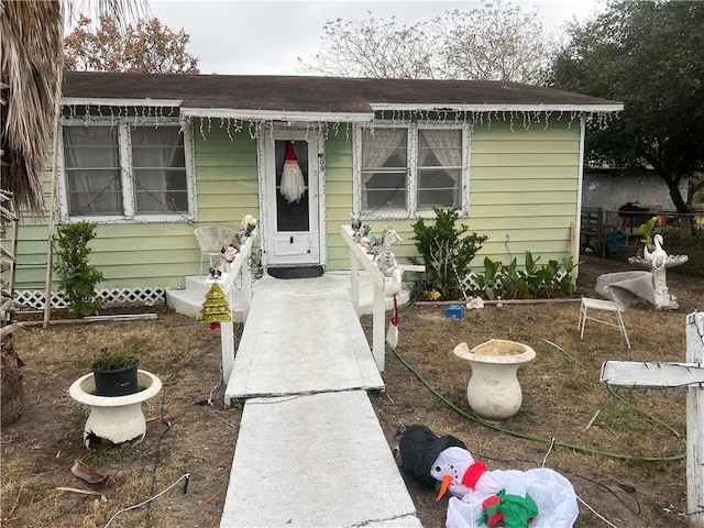
[[[579,288],[593,295],[601,273],[627,268],[587,260]],[[617,329],[601,324],[587,323],[580,341],[579,302],[490,305],[459,320],[444,316],[444,305],[402,310],[397,354],[386,354],[386,391],[370,395],[389,446],[398,444],[399,427],[424,424],[461,439],[490,469],[527,470],[544,460],[616,526],[686,526],[678,515],[686,510],[685,391],[620,389],[634,408],[598,382],[605,360],[684,360],[684,317],[702,308],[704,280],[668,273],[668,285],[680,310],[636,305],[626,311],[632,350]],[[371,331],[370,319],[363,323]],[[461,342],[473,348],[491,339],[518,341],[537,353],[518,371],[520,413],[502,422],[472,414],[465,395],[471,367],[452,353]],[[68,387],[106,345],[140,350],[142,367],[157,374],[164,388],[143,405],[144,441],[88,451],[81,436],[88,413],[68,396]],[[110,527],[219,526],[241,411],[222,405],[218,333],[162,310],[148,321],[32,327],[15,332],[15,348],[25,362],[26,396],[21,419],[2,429],[2,526],[103,527],[120,509],[186,473],[185,494],[182,480],[150,505],[119,514]],[[557,448],[548,454],[553,438]],[[110,475],[108,481],[91,485],[74,476],[76,459]],[[443,526],[447,501],[436,503],[431,492],[406,481],[424,526]],[[580,510],[575,526],[605,526],[586,506]]]

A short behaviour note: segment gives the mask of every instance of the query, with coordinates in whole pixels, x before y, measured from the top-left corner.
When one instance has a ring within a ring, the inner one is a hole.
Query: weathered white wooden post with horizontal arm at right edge
[[[704,312],[686,316],[686,363],[606,361],[602,382],[631,388],[688,387],[686,496],[691,526],[704,528]]]

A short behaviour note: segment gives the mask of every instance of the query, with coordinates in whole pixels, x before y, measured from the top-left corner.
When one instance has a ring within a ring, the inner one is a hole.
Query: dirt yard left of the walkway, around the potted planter
[[[142,406],[144,441],[88,451],[82,443],[88,410],[68,396],[68,387],[106,345],[139,350],[141,367],[155,373],[163,389]],[[21,419],[2,429],[2,526],[102,527],[121,508],[186,473],[187,493],[183,479],[158,499],[120,514],[110,527],[219,526],[241,411],[222,405],[218,333],[162,311],[151,321],[31,327],[15,332],[15,348],[25,362],[25,402]],[[76,459],[108,481],[90,485],[74,476]]]

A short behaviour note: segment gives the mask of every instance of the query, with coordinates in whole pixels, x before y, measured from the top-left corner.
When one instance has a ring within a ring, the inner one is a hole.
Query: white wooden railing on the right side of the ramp
[[[385,300],[384,300],[384,274],[380,271],[376,263],[372,262],[364,248],[358,244],[352,238],[352,228],[342,226],[342,239],[350,248],[350,280],[352,282],[352,304],[360,315],[360,266],[362,262],[364,268],[370,273],[374,283],[374,308],[372,315],[372,354],[376,362],[378,372],[384,372],[385,355]]]

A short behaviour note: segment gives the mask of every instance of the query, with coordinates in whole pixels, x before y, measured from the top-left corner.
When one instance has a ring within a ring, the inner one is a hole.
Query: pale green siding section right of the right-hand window
[[[571,255],[571,222],[578,218],[580,124],[508,123],[476,127],[470,155],[471,231],[488,240],[484,256],[508,263],[530,251],[540,262]]]

